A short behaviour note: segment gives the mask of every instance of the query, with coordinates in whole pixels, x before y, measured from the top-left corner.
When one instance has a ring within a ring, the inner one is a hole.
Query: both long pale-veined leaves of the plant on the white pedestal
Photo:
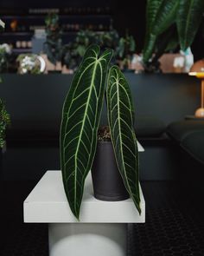
[[[97,148],[97,132],[104,95],[118,171],[124,187],[141,213],[138,150],[131,90],[118,66],[112,66],[111,69],[109,67],[112,50],[106,49],[101,55],[99,53],[99,45],[93,44],[86,49],[62,109],[62,179],[69,207],[78,220],[84,183],[92,168]]]

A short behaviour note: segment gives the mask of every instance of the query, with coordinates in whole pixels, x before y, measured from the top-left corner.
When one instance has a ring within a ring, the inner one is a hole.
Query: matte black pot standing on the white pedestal
[[[118,171],[112,141],[99,141],[92,164],[92,185],[95,198],[117,201],[129,198]]]

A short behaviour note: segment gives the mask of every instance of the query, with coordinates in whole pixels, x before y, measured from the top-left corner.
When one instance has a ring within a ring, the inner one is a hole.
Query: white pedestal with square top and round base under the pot
[[[141,189],[140,194],[141,215],[131,199],[95,199],[88,175],[79,222],[68,206],[61,171],[48,171],[24,201],[24,222],[48,223],[49,256],[125,256],[127,223],[145,222]]]

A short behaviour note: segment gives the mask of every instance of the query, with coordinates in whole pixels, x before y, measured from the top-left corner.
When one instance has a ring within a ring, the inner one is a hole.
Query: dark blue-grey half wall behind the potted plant
[[[155,116],[168,125],[193,115],[200,105],[200,81],[192,76],[125,75],[137,116]],[[0,97],[6,101],[13,128],[58,128],[72,78],[73,75],[2,75]],[[105,120],[105,112],[102,119]]]

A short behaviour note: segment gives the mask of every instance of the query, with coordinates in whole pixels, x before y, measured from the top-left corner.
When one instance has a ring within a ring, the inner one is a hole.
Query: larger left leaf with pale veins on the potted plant
[[[61,171],[69,206],[79,219],[86,175],[92,167],[99,117],[105,94],[105,77],[112,50],[99,56],[92,45],[64,102],[61,120]]]

